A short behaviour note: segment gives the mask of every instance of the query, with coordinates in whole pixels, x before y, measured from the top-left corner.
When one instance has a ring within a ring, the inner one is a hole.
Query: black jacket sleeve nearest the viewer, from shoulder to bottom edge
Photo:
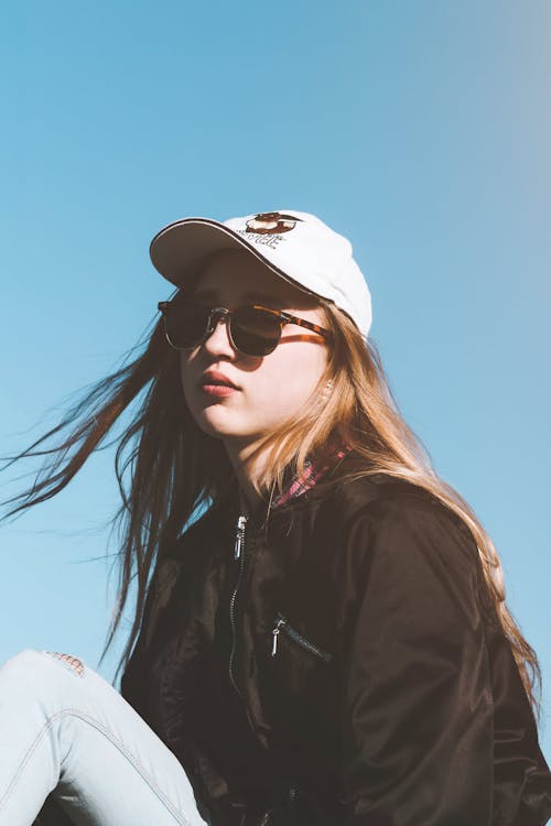
[[[491,667],[468,529],[439,502],[396,497],[350,525],[346,555],[358,553],[343,652],[345,826],[545,824],[551,775],[539,751],[510,767],[518,816],[493,811]],[[526,693],[519,717],[533,727]]]

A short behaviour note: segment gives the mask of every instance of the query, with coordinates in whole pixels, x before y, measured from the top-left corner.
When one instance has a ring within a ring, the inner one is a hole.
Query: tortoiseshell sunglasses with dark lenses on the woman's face
[[[219,319],[227,322],[229,340],[244,356],[268,356],[273,352],[285,324],[298,324],[327,340],[333,337],[329,330],[313,322],[259,304],[247,304],[236,309],[209,309],[193,297],[176,295],[172,301],[159,302],[159,309],[163,315],[166,339],[176,350],[188,350],[205,341]]]

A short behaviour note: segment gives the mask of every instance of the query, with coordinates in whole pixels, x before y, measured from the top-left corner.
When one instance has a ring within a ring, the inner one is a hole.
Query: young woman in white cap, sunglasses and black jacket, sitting
[[[291,210],[176,221],[151,257],[177,290],[144,352],[21,455],[52,461],[11,511],[139,401],[122,696],[64,652],[4,664],[0,824],[47,795],[35,824],[547,823],[536,653],[397,411],[349,242]]]

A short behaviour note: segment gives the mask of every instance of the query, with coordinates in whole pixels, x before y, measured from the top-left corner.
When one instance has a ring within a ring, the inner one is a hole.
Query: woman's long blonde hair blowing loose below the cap
[[[321,305],[334,345],[315,391],[316,403],[304,405],[292,422],[259,445],[268,461],[262,463],[262,475],[253,483],[269,503],[274,489],[282,490],[287,470],[303,472],[309,457],[323,455],[331,445],[349,444],[365,459],[359,475],[390,474],[425,488],[449,506],[476,541],[499,622],[539,719],[540,700],[533,691],[537,682],[541,693],[538,659],[505,604],[501,564],[490,537],[467,502],[435,474],[421,441],[400,415],[375,343],[366,343],[334,304],[322,300]],[[141,349],[141,355],[133,360],[129,357],[71,407],[58,425],[9,459],[8,466],[29,457],[43,458],[44,464],[29,490],[4,502],[11,506],[6,519],[56,496],[101,446],[122,414],[133,410],[117,439],[115,471],[121,504],[112,526],[120,537],[116,557],[119,588],[99,663],[122,619],[134,578],[137,605],[114,685],[140,631],[152,575],[186,524],[237,485],[223,443],[201,431],[184,402],[179,354],[166,343],[161,319],[134,349]],[[255,457],[250,456],[251,463]]]

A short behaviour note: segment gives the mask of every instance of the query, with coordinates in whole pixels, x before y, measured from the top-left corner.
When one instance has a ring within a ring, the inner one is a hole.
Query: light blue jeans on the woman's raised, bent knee
[[[181,763],[97,672],[25,649],[0,667],[0,826],[47,795],[77,826],[207,826]]]

